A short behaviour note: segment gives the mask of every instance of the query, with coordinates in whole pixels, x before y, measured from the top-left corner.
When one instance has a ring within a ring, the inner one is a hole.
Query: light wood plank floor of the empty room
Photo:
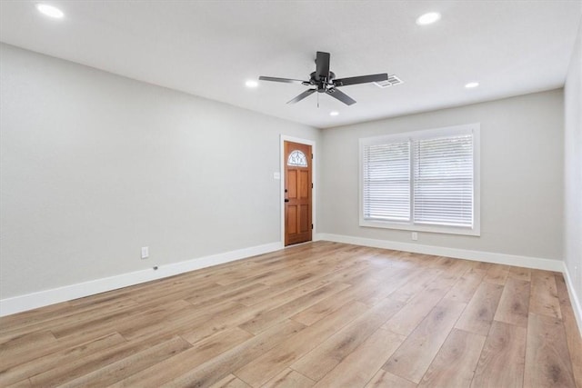
[[[318,242],[0,319],[0,385],[575,387],[561,274]]]

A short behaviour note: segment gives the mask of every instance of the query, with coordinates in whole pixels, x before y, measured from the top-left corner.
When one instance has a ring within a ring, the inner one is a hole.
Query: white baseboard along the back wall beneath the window
[[[518,256],[515,254],[496,254],[493,252],[471,251],[468,249],[447,248],[444,246],[400,243],[396,241],[376,240],[372,238],[354,237],[341,234],[318,234],[318,240],[336,243],[371,246],[373,248],[393,249],[395,251],[413,252],[415,254],[434,254],[437,256],[454,257],[456,259],[475,260],[493,264],[516,265],[518,267],[538,270],[564,272],[564,262],[561,260],[543,259],[540,257]]]

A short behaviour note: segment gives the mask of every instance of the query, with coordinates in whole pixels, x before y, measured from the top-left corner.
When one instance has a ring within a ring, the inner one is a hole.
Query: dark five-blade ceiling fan
[[[326,95],[331,95],[332,97],[336,98],[337,100],[341,101],[346,105],[356,104],[356,100],[354,100],[349,95],[346,95],[345,93],[341,92],[339,89],[337,89],[338,87],[386,81],[388,79],[388,75],[386,73],[382,73],[379,75],[360,75],[356,77],[336,79],[336,75],[334,74],[334,72],[329,71],[329,56],[330,56],[329,53],[323,53],[321,51],[317,52],[316,71],[309,75],[309,81],[302,81],[299,79],[291,78],[267,77],[263,75],[258,77],[258,79],[261,81],[274,81],[274,82],[284,82],[287,84],[301,84],[306,86],[313,86],[312,88],[307,89],[301,95],[297,95],[294,99],[288,101],[287,104],[298,103],[307,96],[317,92],[325,93]]]

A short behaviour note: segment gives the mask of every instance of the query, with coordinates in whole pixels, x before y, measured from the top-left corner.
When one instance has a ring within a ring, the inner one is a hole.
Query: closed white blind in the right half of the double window
[[[473,225],[473,135],[416,140],[414,220]]]

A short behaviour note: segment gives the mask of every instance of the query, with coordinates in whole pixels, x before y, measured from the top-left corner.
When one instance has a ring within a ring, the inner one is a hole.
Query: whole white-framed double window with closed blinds
[[[360,139],[360,225],[479,235],[479,124]]]

